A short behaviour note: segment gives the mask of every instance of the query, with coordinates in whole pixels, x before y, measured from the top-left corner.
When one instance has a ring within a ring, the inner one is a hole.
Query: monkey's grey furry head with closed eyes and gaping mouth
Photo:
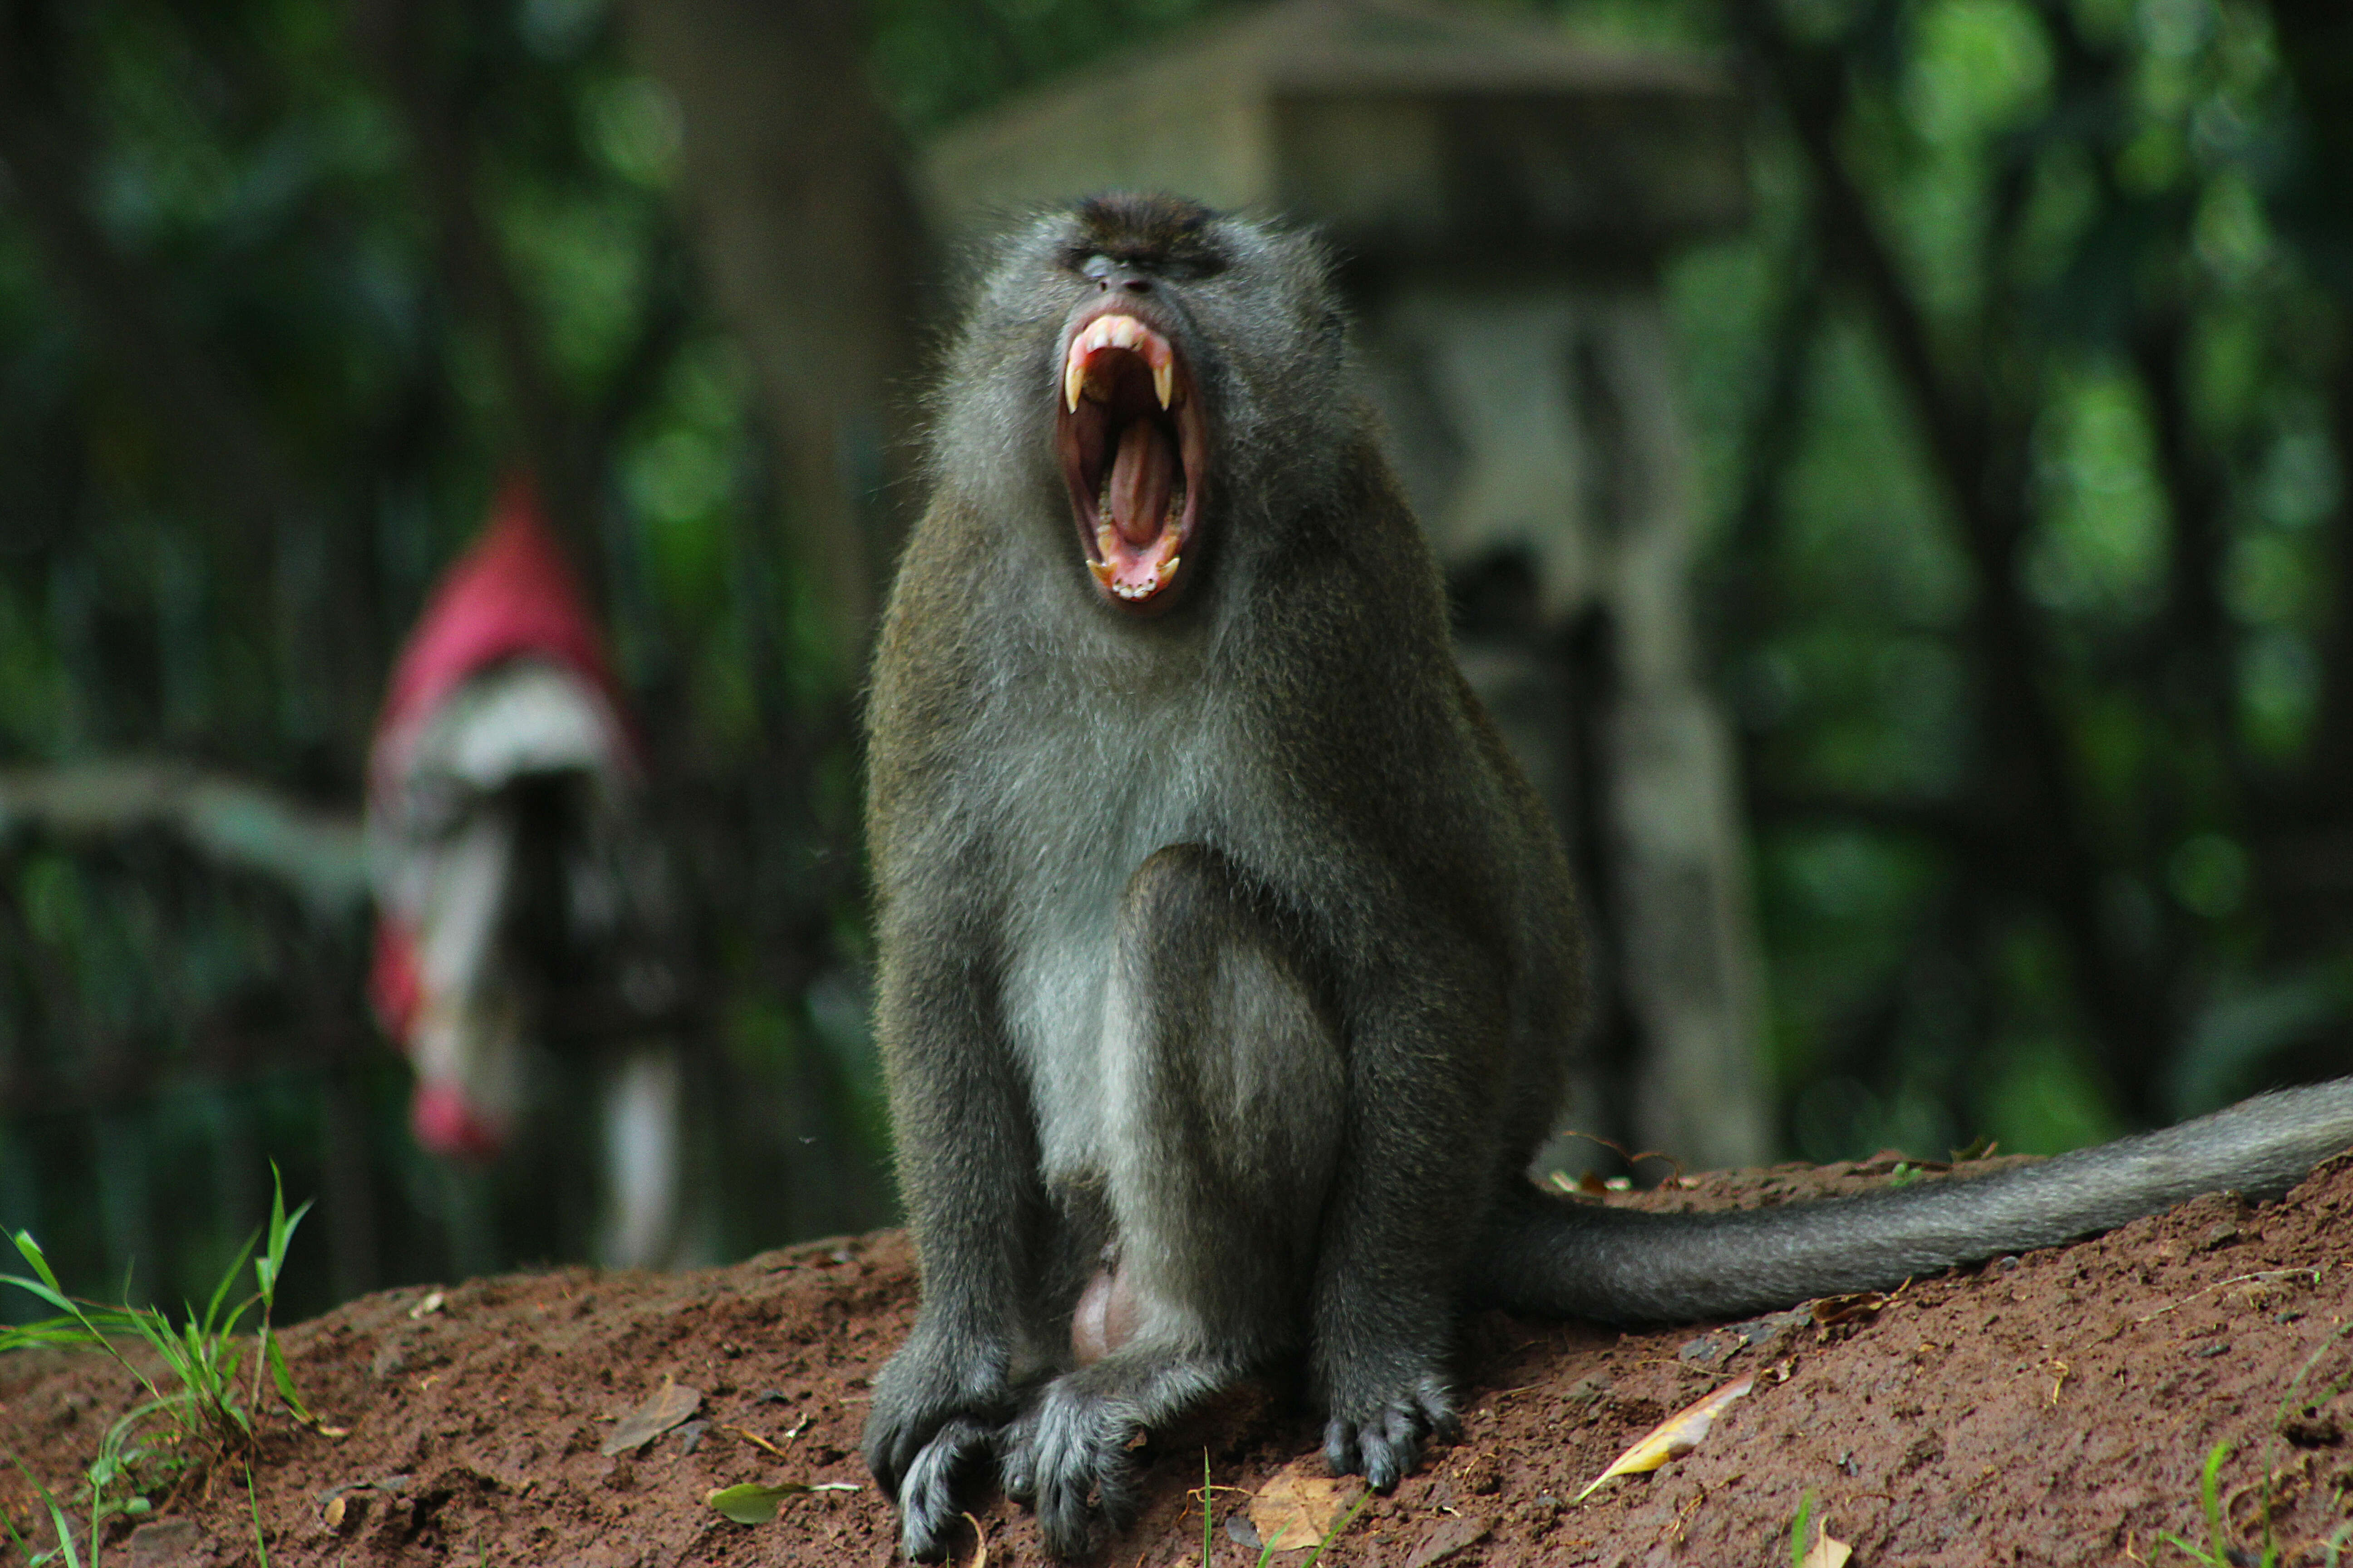
[[[1106,604],[1155,616],[1219,552],[1275,534],[1282,496],[1327,496],[1358,418],[1322,247],[1165,195],[1101,195],[1019,233],[948,367],[955,451],[1014,451],[993,496],[1075,524]]]

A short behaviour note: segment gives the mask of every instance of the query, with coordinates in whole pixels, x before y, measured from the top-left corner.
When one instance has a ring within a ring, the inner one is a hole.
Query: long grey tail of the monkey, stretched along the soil
[[[1513,1312],[1621,1324],[1762,1312],[2057,1246],[2202,1192],[2275,1197],[2346,1147],[2353,1079],[1995,1175],[1779,1208],[1640,1213],[1515,1185],[1482,1239],[1471,1293]]]

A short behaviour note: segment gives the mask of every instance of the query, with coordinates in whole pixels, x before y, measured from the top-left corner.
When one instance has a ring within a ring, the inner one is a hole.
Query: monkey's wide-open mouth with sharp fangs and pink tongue
[[[1160,609],[1200,515],[1207,433],[1169,341],[1125,310],[1078,324],[1061,360],[1054,440],[1087,569],[1129,609]]]

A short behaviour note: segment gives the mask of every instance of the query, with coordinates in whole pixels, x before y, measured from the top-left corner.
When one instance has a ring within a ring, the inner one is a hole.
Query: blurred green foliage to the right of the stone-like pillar
[[[2344,1072],[2337,106],[2264,5],[1687,16],[1769,101],[1758,226],[1673,289],[1795,1150],[2052,1152]]]

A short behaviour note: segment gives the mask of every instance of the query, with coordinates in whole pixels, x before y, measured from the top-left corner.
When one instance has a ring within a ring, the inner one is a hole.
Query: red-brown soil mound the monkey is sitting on
[[[1779,1201],[1878,1180],[1873,1166],[1781,1168],[1633,1201]],[[2231,1443],[2221,1497],[2238,1561],[2264,1561],[2271,1540],[2275,1561],[2322,1563],[2334,1535],[2353,1535],[2348,1222],[2353,1161],[2334,1161],[2273,1206],[2200,1199],[1737,1349],[1737,1335],[1697,1328],[1482,1316],[1464,1354],[1461,1443],[1372,1502],[1325,1561],[1788,1563],[1812,1493],[1859,1568],[2184,1563],[2165,1537],[2212,1549],[2200,1467]],[[866,1380],[915,1305],[899,1234],[682,1276],[485,1279],[421,1312],[426,1300],[388,1291],[287,1333],[304,1394],[348,1436],[271,1425],[252,1479],[273,1566],[892,1561],[892,1512],[856,1436]],[[1697,1453],[1572,1502],[1626,1443],[1741,1371],[1758,1373],[1755,1392]],[[701,1392],[708,1425],[600,1455],[614,1420],[666,1378]],[[0,1361],[0,1446],[64,1493],[127,1396],[127,1378],[94,1359]],[[1275,1394],[1160,1434],[1144,1519],[1104,1561],[1200,1561],[1207,1450],[1212,1556],[1254,1563],[1228,1523],[1313,1448],[1313,1422]],[[762,1526],[704,1502],[781,1479],[859,1490],[788,1497]],[[0,1474],[0,1507],[47,1544],[24,1476]],[[995,1497],[974,1512],[988,1563],[1038,1561],[1026,1514]],[[125,1547],[144,1568],[254,1563],[242,1467],[216,1465],[139,1535],[118,1530],[108,1559]],[[972,1556],[967,1535],[958,1563]],[[0,1561],[16,1559],[0,1547]]]

